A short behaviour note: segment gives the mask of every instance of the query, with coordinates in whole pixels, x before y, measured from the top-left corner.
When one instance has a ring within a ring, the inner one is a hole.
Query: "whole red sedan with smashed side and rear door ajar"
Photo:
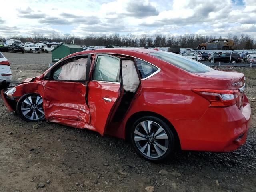
[[[229,152],[244,144],[251,108],[242,73],[164,51],[100,49],[71,54],[2,91],[23,120],[129,138],[144,158],[177,148]]]

